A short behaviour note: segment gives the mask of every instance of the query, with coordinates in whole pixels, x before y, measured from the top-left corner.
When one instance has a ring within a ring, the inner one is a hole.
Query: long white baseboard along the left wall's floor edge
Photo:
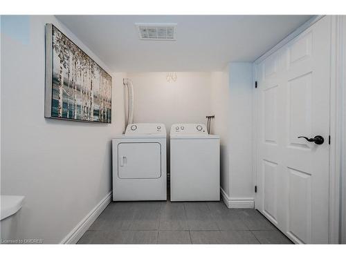
[[[76,244],[89,229],[91,224],[98,218],[104,209],[111,202],[112,191],[110,191],[89,213],[85,216],[74,229],[60,242],[60,244]]]

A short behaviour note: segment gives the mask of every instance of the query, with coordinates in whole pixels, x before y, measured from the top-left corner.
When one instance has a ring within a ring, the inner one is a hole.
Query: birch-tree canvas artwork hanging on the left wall
[[[44,117],[111,123],[111,76],[53,24],[46,24]]]

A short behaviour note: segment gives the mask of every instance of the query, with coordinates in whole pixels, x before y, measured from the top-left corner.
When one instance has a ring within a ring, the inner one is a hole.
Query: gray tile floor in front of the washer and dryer
[[[111,202],[79,244],[291,244],[255,209],[224,202]]]

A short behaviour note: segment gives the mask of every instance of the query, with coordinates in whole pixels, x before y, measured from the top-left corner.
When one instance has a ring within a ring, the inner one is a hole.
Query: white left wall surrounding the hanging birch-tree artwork
[[[2,17],[1,194],[26,198],[15,229],[1,238],[57,243],[111,191],[111,137],[124,126],[125,75],[113,74],[112,124],[45,119],[45,23],[109,69],[53,16]]]

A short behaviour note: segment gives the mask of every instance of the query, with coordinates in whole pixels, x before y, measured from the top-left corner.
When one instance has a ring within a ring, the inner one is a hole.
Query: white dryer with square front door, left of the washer
[[[113,200],[167,200],[166,129],[129,124],[112,140]]]

